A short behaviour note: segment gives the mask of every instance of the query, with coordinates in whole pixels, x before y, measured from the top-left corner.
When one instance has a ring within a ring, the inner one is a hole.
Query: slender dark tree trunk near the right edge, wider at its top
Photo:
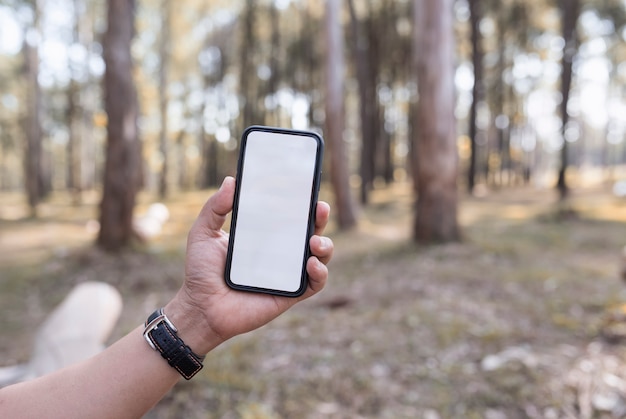
[[[559,191],[559,200],[561,201],[565,200],[569,195],[569,187],[567,185],[566,178],[567,167],[569,166],[569,148],[567,145],[568,143],[565,140],[565,130],[567,128],[567,122],[569,121],[567,104],[569,102],[569,93],[572,85],[572,63],[574,61],[574,56],[578,51],[576,21],[578,20],[579,13],[579,0],[561,0],[563,40],[565,41],[565,46],[563,47],[563,59],[561,62],[561,120],[563,121],[561,134],[563,137],[563,147],[561,148],[559,177],[556,183],[557,190]]]

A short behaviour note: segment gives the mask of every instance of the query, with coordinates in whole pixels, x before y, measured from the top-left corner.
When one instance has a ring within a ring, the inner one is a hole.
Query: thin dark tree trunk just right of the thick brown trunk
[[[480,35],[480,20],[482,18],[481,0],[469,0],[472,64],[474,67],[474,86],[472,87],[472,105],[470,107],[469,137],[470,137],[470,164],[467,172],[467,189],[471,194],[476,186],[476,161],[478,158],[476,118],[478,104],[483,98],[483,51]]]

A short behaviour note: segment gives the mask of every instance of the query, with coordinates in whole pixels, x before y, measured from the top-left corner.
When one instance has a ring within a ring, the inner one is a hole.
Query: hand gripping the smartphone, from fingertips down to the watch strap
[[[185,283],[165,307],[165,313],[179,329],[179,336],[197,354],[203,355],[235,335],[257,329],[324,288],[326,264],[332,257],[333,242],[321,234],[330,207],[318,202],[313,256],[307,261],[308,289],[298,298],[235,291],[224,281],[228,234],[222,230],[233,208],[235,180],[224,179],[220,189],[207,201],[189,232]]]

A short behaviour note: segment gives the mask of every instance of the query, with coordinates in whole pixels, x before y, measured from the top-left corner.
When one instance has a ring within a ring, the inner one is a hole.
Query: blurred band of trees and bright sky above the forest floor
[[[457,184],[565,198],[577,174],[623,173],[625,23],[620,0],[3,0],[0,189],[32,215],[102,191],[102,230],[128,230],[137,191],[215,186],[243,129],[276,125],[325,133],[341,227],[413,179],[422,218],[451,208],[447,235],[415,237],[454,239]]]

